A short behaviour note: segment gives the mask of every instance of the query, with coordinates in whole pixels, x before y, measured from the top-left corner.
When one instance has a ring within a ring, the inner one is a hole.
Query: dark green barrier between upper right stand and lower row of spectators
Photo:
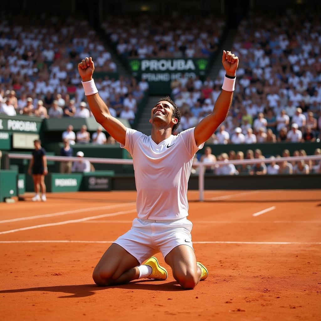
[[[227,145],[206,145],[212,148],[212,154],[219,155],[221,153],[229,153],[230,151],[243,152],[244,157],[248,149],[252,151],[260,149],[265,157],[280,155],[285,149],[290,151],[291,156],[294,151],[303,149],[307,155],[313,155],[317,148],[320,148],[320,143],[262,143],[262,144],[227,144]],[[199,151],[204,154],[204,148]]]

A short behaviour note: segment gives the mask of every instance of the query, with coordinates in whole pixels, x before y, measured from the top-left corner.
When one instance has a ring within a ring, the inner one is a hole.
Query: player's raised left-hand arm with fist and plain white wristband
[[[103,126],[117,142],[125,145],[126,127],[117,118],[110,115],[107,105],[100,98],[94,80],[92,79],[94,70],[95,67],[91,57],[82,59],[82,62],[78,64],[78,71],[82,77],[82,85],[90,110],[96,121]]]

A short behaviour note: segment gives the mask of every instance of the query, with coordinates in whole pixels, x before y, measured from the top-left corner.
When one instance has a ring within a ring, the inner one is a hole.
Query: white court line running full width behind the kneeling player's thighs
[[[43,241],[0,241],[2,244],[10,243],[94,243],[110,244],[114,241],[72,241],[72,240],[43,240]],[[239,241],[198,241],[193,244],[264,244],[264,245],[321,245],[321,242],[239,242]]]

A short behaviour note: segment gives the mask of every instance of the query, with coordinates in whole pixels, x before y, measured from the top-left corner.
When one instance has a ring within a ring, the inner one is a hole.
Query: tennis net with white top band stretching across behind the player
[[[31,155],[9,153],[5,155],[4,164],[9,169],[14,160],[30,158]],[[49,175],[53,175],[59,173],[61,162],[77,162],[79,158],[47,156],[47,160]],[[86,174],[86,182],[97,183],[106,176],[110,180],[108,188],[95,189],[103,193],[97,197],[104,201],[135,201],[133,160],[89,157],[82,160],[89,160],[99,168]],[[69,178],[74,174],[61,175]],[[83,184],[79,190],[82,187]],[[195,158],[187,196],[189,201],[212,202],[321,201],[321,155],[224,159],[206,163]],[[55,197],[54,193],[52,197]]]

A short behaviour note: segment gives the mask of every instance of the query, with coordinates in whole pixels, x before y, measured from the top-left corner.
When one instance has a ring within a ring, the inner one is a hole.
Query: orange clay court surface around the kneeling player
[[[190,201],[196,257],[209,270],[194,290],[178,285],[160,254],[166,281],[94,284],[100,257],[137,216],[134,192],[56,193],[47,202],[27,195],[0,204],[2,318],[319,319],[321,202],[228,195]]]

